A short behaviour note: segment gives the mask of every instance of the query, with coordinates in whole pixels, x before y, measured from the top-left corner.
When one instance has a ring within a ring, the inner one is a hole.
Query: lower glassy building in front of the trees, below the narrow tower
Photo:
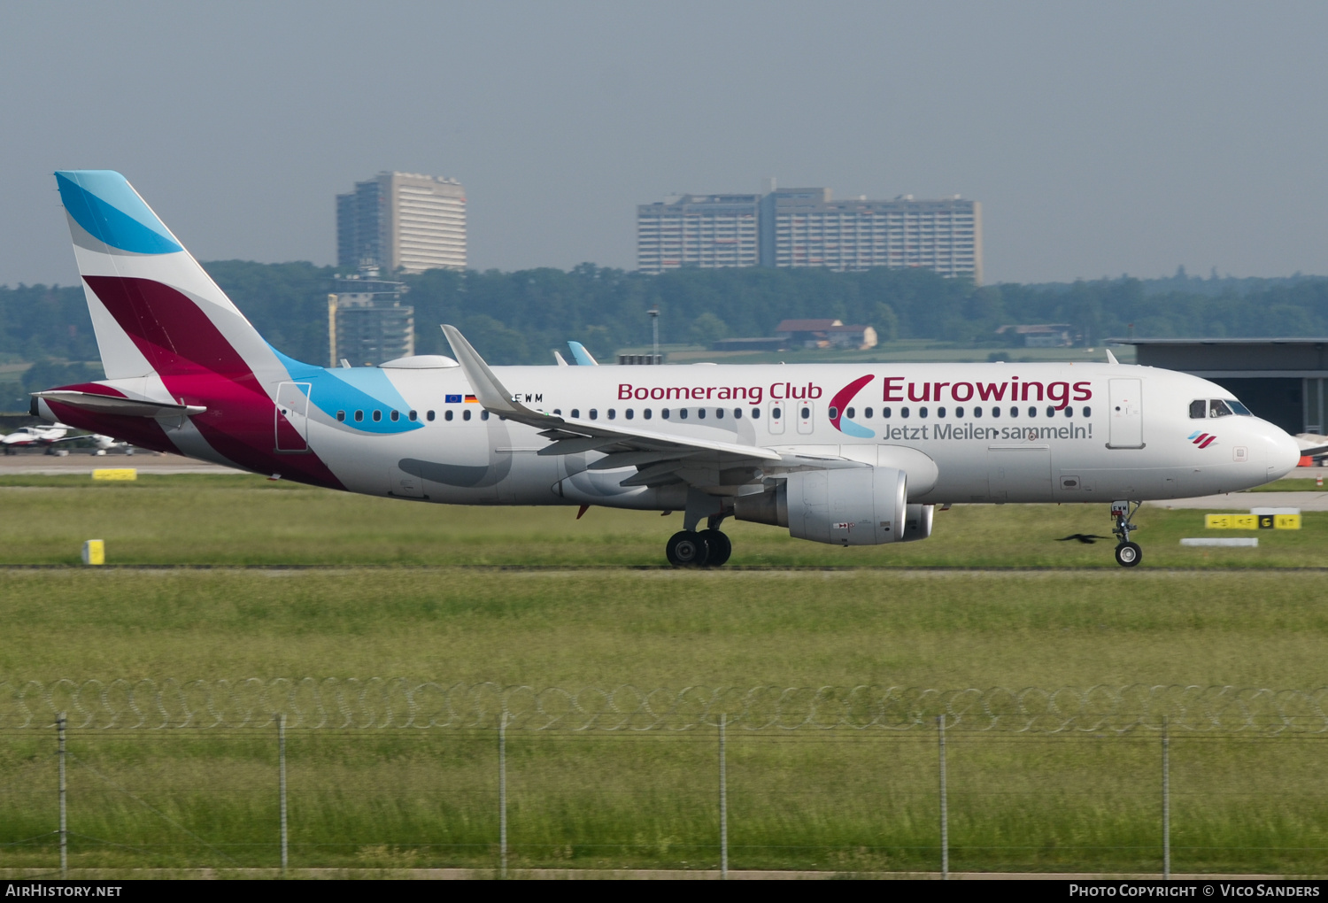
[[[406,286],[378,279],[377,270],[339,278],[328,295],[329,367],[381,364],[414,355],[414,308],[401,303]]]

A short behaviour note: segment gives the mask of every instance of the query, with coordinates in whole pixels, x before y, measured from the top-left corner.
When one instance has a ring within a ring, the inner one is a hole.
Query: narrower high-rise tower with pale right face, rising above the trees
[[[378,173],[336,197],[337,266],[466,268],[466,193],[456,179]]]

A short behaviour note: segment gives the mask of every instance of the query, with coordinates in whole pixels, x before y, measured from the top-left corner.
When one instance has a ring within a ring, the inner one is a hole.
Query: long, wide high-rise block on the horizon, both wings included
[[[923,267],[983,278],[981,205],[957,195],[834,201],[830,189],[681,195],[636,208],[641,272],[687,267]]]

